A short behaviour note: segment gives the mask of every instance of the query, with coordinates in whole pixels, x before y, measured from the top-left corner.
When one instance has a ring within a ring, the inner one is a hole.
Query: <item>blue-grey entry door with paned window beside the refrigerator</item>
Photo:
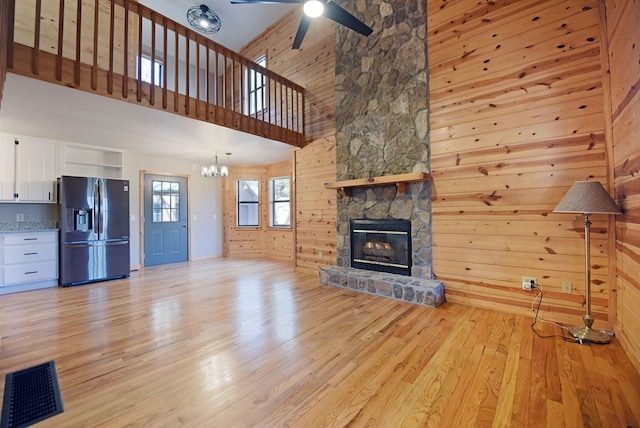
[[[142,172],[143,266],[189,260],[189,177]]]

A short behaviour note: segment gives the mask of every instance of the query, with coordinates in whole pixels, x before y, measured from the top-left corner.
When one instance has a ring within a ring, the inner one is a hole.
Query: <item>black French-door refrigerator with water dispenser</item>
[[[60,285],[126,278],[129,261],[129,181],[63,176]]]

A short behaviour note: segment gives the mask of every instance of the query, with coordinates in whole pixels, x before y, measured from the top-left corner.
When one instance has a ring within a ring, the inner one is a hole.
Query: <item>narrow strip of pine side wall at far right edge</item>
[[[616,219],[620,342],[640,370],[640,3],[606,0],[613,174],[624,215]]]

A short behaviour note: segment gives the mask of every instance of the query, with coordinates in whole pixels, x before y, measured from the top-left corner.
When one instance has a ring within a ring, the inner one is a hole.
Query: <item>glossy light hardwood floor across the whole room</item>
[[[640,426],[640,375],[615,339],[541,339],[530,318],[354,293],[277,262],[0,296],[0,320],[2,385],[56,362],[65,410],[42,427]]]

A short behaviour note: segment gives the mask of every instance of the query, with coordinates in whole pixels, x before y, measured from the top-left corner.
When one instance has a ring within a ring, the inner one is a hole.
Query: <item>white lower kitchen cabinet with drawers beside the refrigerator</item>
[[[57,231],[8,233],[0,241],[0,294],[57,285]]]

